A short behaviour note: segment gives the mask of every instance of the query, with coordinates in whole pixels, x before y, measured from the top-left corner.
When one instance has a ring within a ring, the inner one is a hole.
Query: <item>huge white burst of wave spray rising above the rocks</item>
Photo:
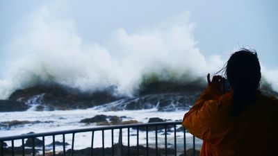
[[[197,49],[188,12],[133,33],[118,28],[103,45],[83,43],[74,21],[54,17],[47,7],[31,15],[26,27],[11,45],[18,57],[0,80],[0,98],[44,83],[84,92],[114,86],[116,94],[132,95],[147,74],[190,82],[220,64],[207,62]]]

